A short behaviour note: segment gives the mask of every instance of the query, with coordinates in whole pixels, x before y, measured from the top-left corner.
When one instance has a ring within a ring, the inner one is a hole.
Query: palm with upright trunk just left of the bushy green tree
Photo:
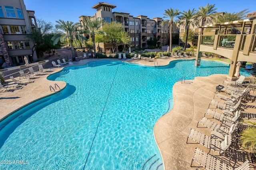
[[[90,20],[88,16],[83,17],[84,25],[86,26],[86,33],[90,35],[93,42],[94,56],[96,56],[96,47],[95,47],[95,36],[98,34],[104,34],[100,28],[102,27],[102,20]]]

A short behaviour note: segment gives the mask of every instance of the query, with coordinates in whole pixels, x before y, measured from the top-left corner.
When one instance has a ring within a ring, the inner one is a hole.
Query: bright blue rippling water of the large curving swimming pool
[[[228,74],[229,65],[194,60],[146,67],[118,61],[66,67],[65,81],[0,123],[0,169],[164,169],[153,128],[173,106],[172,86],[185,76]],[[19,160],[20,164],[13,161]]]

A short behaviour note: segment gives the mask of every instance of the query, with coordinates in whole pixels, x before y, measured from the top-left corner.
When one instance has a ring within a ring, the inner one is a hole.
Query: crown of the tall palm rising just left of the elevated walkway
[[[205,26],[206,25],[206,20],[207,19],[213,19],[214,18],[214,14],[216,14],[216,10],[217,8],[214,8],[215,4],[211,4],[209,5],[209,3],[206,4],[205,7],[200,6],[196,12],[196,16],[202,18],[202,24],[201,26]],[[209,17],[209,18],[207,18]]]

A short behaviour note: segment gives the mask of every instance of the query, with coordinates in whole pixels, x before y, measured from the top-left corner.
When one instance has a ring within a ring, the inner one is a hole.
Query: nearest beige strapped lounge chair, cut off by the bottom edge
[[[212,156],[199,148],[195,148],[190,166],[195,167],[192,166],[194,161],[200,164],[206,170],[250,170],[250,162],[248,160],[237,168],[234,168],[236,166],[236,162],[233,166],[231,166],[230,160],[233,156],[235,156],[234,153],[230,153],[229,164],[227,164],[226,161],[216,158],[215,156]]]

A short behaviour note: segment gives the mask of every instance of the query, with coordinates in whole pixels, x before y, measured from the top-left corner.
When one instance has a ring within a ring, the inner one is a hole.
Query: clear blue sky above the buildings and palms
[[[240,12],[249,8],[250,12],[256,11],[256,0],[24,0],[27,10],[34,10],[37,19],[43,19],[56,24],[56,20],[79,22],[79,16],[93,16],[96,12],[92,6],[99,2],[106,2],[115,5],[112,12],[125,12],[136,17],[139,15],[148,16],[152,19],[163,17],[164,10],[171,8],[187,11],[200,6],[206,6],[207,3],[215,4],[217,12]]]

